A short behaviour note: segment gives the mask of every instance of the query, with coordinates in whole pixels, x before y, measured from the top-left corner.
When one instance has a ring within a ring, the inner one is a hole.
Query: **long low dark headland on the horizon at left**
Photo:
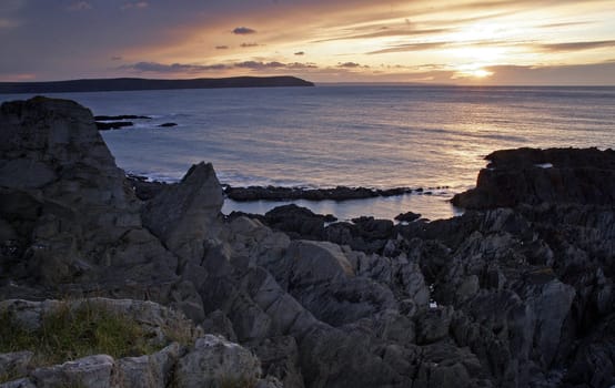
[[[0,82],[1,93],[78,93],[129,90],[313,86],[295,76],[232,76],[192,80],[150,80],[140,78],[89,79],[50,82]]]

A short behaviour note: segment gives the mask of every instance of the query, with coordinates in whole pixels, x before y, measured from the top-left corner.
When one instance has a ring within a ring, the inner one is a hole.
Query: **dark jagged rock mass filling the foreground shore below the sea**
[[[211,334],[171,364],[151,357],[173,349],[80,360],[97,381],[172,365],[175,381],[206,384],[221,357],[216,370],[270,387],[615,384],[614,191],[598,178],[611,176],[611,151],[583,151],[583,174],[576,150],[494,153],[495,172],[523,171],[514,201],[500,186],[512,181],[485,178],[462,195],[483,211],[461,217],[325,225],[295,207],[224,219],[204,163],[141,201],[72,102],[6,103],[0,124],[0,300],[152,299]],[[544,163],[565,180],[551,181]],[[28,384],[74,367],[32,371]]]

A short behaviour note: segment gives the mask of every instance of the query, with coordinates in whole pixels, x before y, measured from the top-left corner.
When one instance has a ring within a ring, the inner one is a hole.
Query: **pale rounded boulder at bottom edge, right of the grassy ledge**
[[[224,384],[249,386],[261,376],[259,359],[250,350],[222,337],[199,338],[175,370],[179,388],[200,388]]]

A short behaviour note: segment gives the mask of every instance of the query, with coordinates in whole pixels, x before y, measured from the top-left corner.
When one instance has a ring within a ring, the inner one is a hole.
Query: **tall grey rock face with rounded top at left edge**
[[[34,98],[2,104],[0,123],[3,272],[49,286],[174,278],[89,110]]]

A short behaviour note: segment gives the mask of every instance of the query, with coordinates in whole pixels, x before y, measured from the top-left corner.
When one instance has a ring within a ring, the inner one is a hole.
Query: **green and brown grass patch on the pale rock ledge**
[[[89,355],[113,358],[140,356],[160,350],[148,334],[129,317],[101,304],[63,303],[42,316],[41,325],[28,330],[10,312],[0,314],[0,353],[30,350],[36,366],[56,365]]]

